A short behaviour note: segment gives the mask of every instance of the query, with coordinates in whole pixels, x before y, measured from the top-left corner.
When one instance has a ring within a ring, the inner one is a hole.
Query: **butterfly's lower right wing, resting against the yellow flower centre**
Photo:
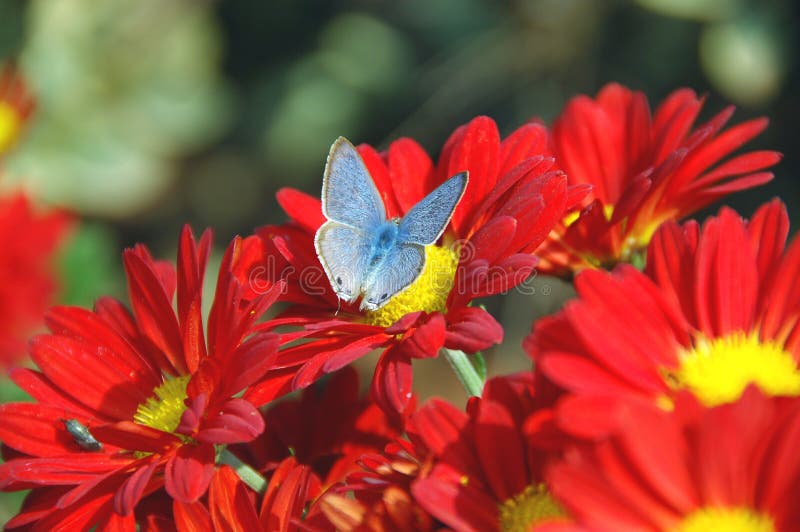
[[[424,266],[424,247],[398,242],[370,272],[364,286],[361,309],[377,310],[385,305],[392,296],[413,283]]]

